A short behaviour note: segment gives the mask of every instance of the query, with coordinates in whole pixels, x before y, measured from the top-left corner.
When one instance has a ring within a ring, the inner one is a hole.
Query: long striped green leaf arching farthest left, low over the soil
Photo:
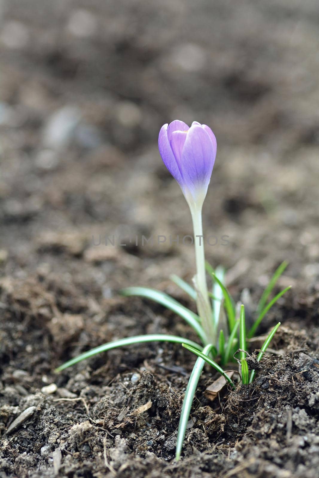
[[[125,347],[127,345],[134,345],[134,344],[142,344],[145,342],[172,342],[176,344],[185,344],[187,343],[189,346],[194,347],[195,349],[201,350],[201,346],[193,342],[192,340],[188,340],[183,337],[176,337],[174,335],[165,335],[165,334],[150,334],[150,335],[138,335],[134,337],[125,337],[120,338],[119,340],[114,340],[114,342],[108,342],[107,344],[100,345],[99,347],[92,348],[87,352],[84,352],[81,355],[78,355],[74,359],[68,360],[63,365],[60,365],[55,372],[61,372],[61,370],[66,369],[67,367],[71,367],[71,365],[80,362],[81,360],[88,359],[93,355],[99,354],[101,352],[107,352],[112,348],[118,347]]]

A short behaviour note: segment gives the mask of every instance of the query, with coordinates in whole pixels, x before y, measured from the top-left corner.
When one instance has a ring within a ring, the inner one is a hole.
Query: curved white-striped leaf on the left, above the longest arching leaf
[[[146,297],[147,299],[154,300],[158,304],[164,305],[164,307],[182,317],[187,324],[195,330],[202,342],[204,344],[207,343],[206,334],[203,327],[200,325],[200,318],[198,315],[187,309],[187,307],[184,307],[184,305],[177,302],[170,295],[156,291],[155,289],[149,289],[148,287],[127,287],[126,289],[122,289],[120,293],[129,297],[132,295]]]

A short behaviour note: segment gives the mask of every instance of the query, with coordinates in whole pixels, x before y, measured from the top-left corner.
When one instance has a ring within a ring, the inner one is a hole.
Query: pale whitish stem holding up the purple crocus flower
[[[205,252],[204,252],[204,236],[202,226],[202,208],[201,206],[190,206],[190,212],[193,220],[195,257],[196,257],[196,280],[195,286],[197,290],[197,309],[198,315],[202,320],[203,328],[206,332],[209,343],[216,343],[216,333],[214,330],[211,306],[209,302],[206,269],[205,269]]]

